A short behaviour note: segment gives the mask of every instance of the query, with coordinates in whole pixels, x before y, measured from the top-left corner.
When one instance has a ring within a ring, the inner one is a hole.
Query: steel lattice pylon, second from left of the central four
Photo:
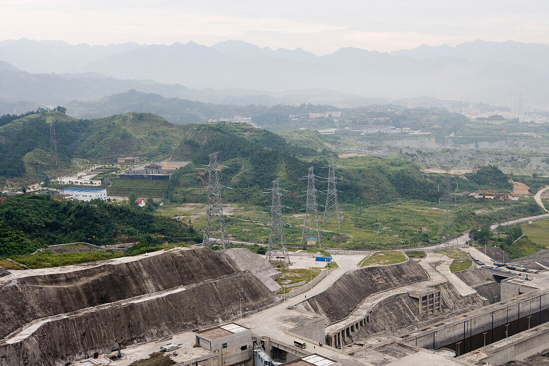
[[[273,180],[271,203],[271,233],[269,234],[269,246],[267,248],[267,260],[269,262],[283,262],[284,267],[290,264],[286,237],[284,236],[284,220],[282,220],[282,190],[278,186],[279,179]]]

